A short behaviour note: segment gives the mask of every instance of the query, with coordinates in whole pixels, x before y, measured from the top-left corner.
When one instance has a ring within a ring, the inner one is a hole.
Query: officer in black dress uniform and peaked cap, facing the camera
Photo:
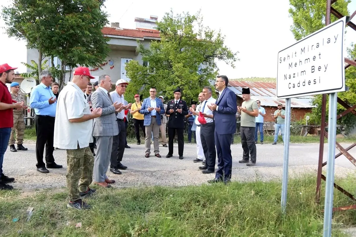
[[[167,158],[173,156],[173,141],[177,132],[178,137],[178,155],[179,159],[183,159],[184,149],[184,117],[188,114],[187,103],[180,99],[182,90],[179,88],[174,91],[174,99],[167,103],[166,114],[168,119],[168,154]]]

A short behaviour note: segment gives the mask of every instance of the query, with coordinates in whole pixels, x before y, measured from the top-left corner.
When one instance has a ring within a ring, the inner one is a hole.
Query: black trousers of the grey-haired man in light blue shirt
[[[53,136],[54,136],[54,117],[36,115],[35,122],[36,129],[36,158],[37,158],[37,168],[45,167],[43,162],[43,151],[46,145],[46,164],[53,165]]]

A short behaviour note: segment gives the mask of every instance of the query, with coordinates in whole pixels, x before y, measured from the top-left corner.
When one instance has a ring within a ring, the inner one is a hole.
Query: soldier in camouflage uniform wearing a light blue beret
[[[20,85],[17,82],[12,82],[11,83],[11,97],[12,100],[17,101],[17,102],[24,102],[25,103],[25,96],[22,95],[19,90],[20,90]],[[26,104],[26,103],[25,103]],[[27,148],[23,147],[23,135],[25,134],[25,120],[23,116],[23,110],[27,109],[27,106],[23,106],[23,108],[20,109],[13,109],[13,116],[14,116],[14,126],[11,128],[11,134],[10,134],[10,140],[9,140],[9,146],[10,146],[10,151],[16,152],[17,150],[20,151],[27,151]],[[14,138],[14,133],[16,131],[16,144],[17,144],[17,150],[15,148],[15,138]]]

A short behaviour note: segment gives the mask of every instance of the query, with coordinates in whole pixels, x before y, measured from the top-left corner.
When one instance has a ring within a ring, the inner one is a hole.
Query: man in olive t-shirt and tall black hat
[[[241,144],[244,153],[242,160],[239,163],[247,163],[247,166],[256,165],[256,144],[255,144],[255,119],[258,116],[257,102],[250,97],[250,88],[242,88],[242,102],[241,107],[237,108],[237,112],[241,114]],[[251,160],[251,161],[250,161]]]

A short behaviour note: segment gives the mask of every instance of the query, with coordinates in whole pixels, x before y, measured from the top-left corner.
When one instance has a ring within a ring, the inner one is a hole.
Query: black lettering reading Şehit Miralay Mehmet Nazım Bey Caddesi
[[[280,57],[279,58],[279,63],[282,64],[282,62],[287,62],[288,63],[288,69],[294,69],[294,68],[298,68],[299,66],[302,65],[307,65],[307,64],[312,64],[310,65],[310,70],[300,70],[298,71],[297,69],[293,72],[293,73],[286,73],[284,74],[284,80],[289,80],[289,79],[294,79],[297,77],[301,77],[301,76],[305,76],[308,73],[312,74],[315,71],[321,71],[321,72],[326,72],[328,70],[328,64],[322,64],[322,65],[318,65],[318,60],[320,60],[322,58],[322,55],[320,52],[318,52],[319,48],[322,46],[327,46],[330,45],[332,43],[336,43],[337,41],[337,37],[339,36],[339,34],[337,34],[336,36],[334,35],[334,37],[331,38],[323,38],[321,42],[316,42],[315,44],[312,45],[305,45],[303,47],[300,48],[300,54],[297,54],[297,51],[292,52],[290,55],[287,54],[286,57]],[[315,51],[315,55],[312,57],[308,57],[308,58],[303,58],[303,59],[297,59],[298,55],[303,55],[307,52],[312,52]],[[289,62],[289,60],[291,60]],[[293,61],[295,60],[295,61]],[[305,68],[305,67],[304,67]],[[288,88],[295,88],[295,87],[300,87],[300,86],[306,86],[306,85],[315,85],[317,83],[320,83],[320,76],[315,76],[314,79],[310,79],[308,81],[302,81],[302,84],[300,84],[300,80],[296,83],[296,82],[289,82],[288,83]]]

